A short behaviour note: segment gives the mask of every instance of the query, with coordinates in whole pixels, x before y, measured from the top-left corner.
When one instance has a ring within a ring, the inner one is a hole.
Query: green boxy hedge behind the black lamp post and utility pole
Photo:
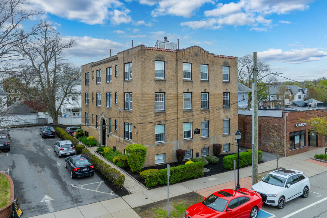
[[[262,151],[258,151],[258,157],[260,155],[262,157]],[[252,164],[252,152],[240,152],[239,156],[240,156],[240,164],[239,164],[240,167]],[[237,154],[225,156],[223,158],[225,169],[233,170],[234,160],[236,160],[236,165],[237,165]]]

